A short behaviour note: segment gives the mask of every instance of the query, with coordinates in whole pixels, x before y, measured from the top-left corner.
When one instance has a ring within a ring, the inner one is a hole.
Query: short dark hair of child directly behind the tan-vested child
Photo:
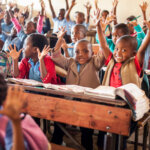
[[[120,30],[123,35],[130,34],[129,28],[125,23],[119,23],[119,24],[115,25],[114,29]]]

